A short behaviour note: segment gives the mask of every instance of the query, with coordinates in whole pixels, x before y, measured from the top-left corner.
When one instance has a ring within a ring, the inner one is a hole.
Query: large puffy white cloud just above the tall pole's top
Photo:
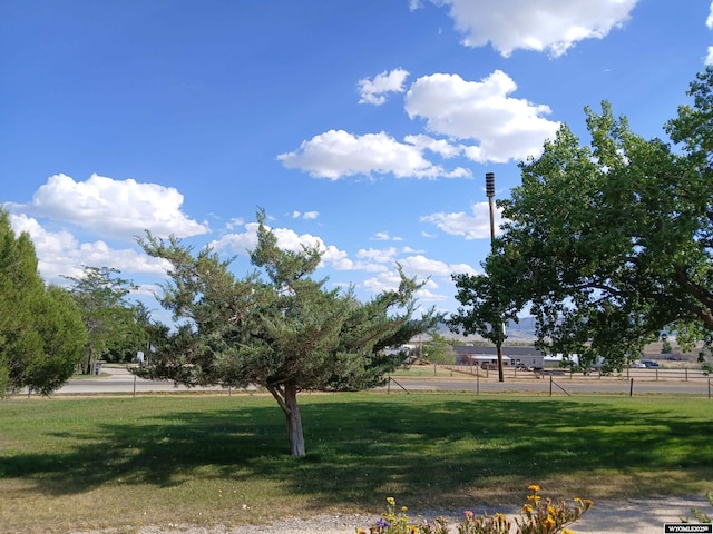
[[[420,117],[429,131],[453,139],[477,140],[463,151],[477,162],[524,160],[541,152],[559,122],[544,118],[549,107],[509,95],[515,81],[496,70],[481,81],[436,73],[417,79],[406,96],[406,110]]]

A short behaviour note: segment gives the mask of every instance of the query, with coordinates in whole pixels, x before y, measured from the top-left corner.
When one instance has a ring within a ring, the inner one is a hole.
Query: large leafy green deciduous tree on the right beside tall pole
[[[466,317],[529,307],[539,345],[621,367],[662,332],[713,340],[713,70],[666,125],[673,146],[586,109],[590,142],[567,126],[520,165],[485,275],[461,278]],[[469,315],[470,314],[470,315]]]

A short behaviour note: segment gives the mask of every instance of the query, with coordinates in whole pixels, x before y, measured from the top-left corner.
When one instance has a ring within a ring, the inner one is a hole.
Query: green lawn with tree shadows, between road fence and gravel
[[[287,514],[703,495],[713,403],[664,396],[301,396],[307,457],[286,455],[272,397],[0,402],[2,532]],[[126,525],[126,526],[124,526]]]

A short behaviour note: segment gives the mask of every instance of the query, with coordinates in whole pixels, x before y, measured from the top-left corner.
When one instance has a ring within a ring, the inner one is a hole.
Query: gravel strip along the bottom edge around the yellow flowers
[[[573,525],[577,534],[660,534],[665,523],[680,523],[682,517],[693,518],[691,508],[696,507],[713,515],[709,502],[701,497],[655,498],[632,501],[597,502],[585,516]],[[518,510],[499,508],[502,512],[517,514]],[[473,510],[481,513],[481,511]],[[492,514],[494,511],[488,511]],[[410,517],[433,518],[443,515],[451,525],[462,516],[428,511],[414,512]],[[237,527],[197,527],[189,525],[146,526],[138,530],[117,527],[110,531],[82,531],[69,534],[354,534],[356,527],[368,528],[378,520],[370,514],[318,515],[309,520],[286,518],[270,525],[243,525]],[[455,528],[453,528],[455,532]]]

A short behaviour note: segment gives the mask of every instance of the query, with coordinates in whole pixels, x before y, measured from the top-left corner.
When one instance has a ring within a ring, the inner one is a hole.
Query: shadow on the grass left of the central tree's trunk
[[[255,458],[283,453],[284,425],[276,415],[266,407],[170,412],[140,423],[99,423],[85,433],[56,432],[55,438],[74,447],[1,458],[0,478],[37,479],[43,491],[62,494],[110,482],[178,485],[204,466],[240,473]]]

